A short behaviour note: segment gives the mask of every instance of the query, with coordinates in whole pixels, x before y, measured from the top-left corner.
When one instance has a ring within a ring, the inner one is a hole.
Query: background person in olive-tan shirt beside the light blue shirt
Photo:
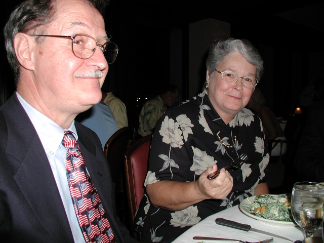
[[[128,127],[126,106],[123,103],[123,101],[115,97],[112,94],[112,92],[108,92],[108,93],[102,92],[102,101],[112,111],[118,129]]]

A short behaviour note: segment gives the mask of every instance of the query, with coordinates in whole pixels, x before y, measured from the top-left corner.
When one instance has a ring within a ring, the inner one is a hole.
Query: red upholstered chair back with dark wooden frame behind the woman
[[[151,135],[145,136],[131,145],[124,156],[131,225],[134,224],[136,210],[144,196],[150,143]]]

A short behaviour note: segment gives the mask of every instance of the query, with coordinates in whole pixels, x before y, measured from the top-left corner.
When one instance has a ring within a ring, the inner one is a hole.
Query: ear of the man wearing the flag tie
[[[25,33],[17,33],[14,38],[14,49],[18,62],[27,70],[34,69],[34,39]]]

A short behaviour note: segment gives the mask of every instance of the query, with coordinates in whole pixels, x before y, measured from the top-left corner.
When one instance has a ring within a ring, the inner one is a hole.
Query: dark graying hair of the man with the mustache
[[[109,0],[84,0],[96,8],[102,15]],[[18,32],[26,33],[39,26],[44,27],[53,21],[55,0],[26,0],[16,7],[4,28],[7,57],[15,75],[15,84],[19,78],[19,62],[14,50],[14,38]]]

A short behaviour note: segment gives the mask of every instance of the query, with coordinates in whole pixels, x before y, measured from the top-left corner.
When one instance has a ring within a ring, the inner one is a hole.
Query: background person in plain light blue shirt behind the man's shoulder
[[[105,144],[111,135],[118,131],[114,115],[102,100],[89,110],[78,114],[75,120],[90,128],[98,135],[102,149],[105,148]]]

